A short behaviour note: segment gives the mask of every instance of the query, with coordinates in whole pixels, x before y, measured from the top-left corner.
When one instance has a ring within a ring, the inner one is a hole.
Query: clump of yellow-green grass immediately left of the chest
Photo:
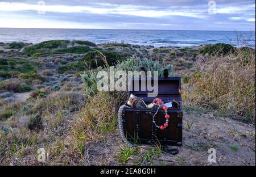
[[[86,106],[81,110],[74,125],[78,134],[90,130],[98,134],[112,132],[117,121],[117,112],[121,96],[115,98],[109,92],[99,92],[89,98]]]

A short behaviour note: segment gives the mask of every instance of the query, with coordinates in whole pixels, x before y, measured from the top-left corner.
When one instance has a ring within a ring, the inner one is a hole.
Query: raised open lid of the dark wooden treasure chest
[[[156,82],[157,81],[155,81],[155,83]],[[152,88],[148,89],[148,85]],[[155,86],[154,78],[133,78],[132,85],[130,83],[130,88],[128,98],[133,94],[143,100],[152,100],[154,98],[161,98],[162,100],[181,100],[180,77],[159,77],[158,86]]]

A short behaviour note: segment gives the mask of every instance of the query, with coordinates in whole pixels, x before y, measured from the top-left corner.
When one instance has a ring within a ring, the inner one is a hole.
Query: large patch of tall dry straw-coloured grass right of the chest
[[[228,56],[203,57],[194,70],[184,88],[186,103],[255,122],[255,50],[240,48]]]

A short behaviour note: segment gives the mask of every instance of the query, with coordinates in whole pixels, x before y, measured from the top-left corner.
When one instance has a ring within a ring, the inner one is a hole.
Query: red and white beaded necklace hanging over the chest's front
[[[160,98],[154,99],[152,104],[154,104],[154,106],[158,107],[157,111],[155,112],[155,114],[154,114],[154,116],[152,118],[153,119],[153,123],[155,124],[155,127],[159,128],[160,130],[164,130],[165,128],[168,127],[168,121],[170,119],[170,115],[168,115],[168,113],[167,113],[168,107],[163,104],[162,99],[160,99]],[[163,125],[156,125],[156,123],[155,123],[155,116],[158,113],[160,108],[162,108],[164,110],[164,113],[166,113],[166,115],[164,116],[166,118],[166,123],[164,123]]]

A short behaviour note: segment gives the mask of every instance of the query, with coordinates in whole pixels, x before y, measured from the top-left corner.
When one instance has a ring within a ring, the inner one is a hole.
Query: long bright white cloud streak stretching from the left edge
[[[90,13],[90,14],[117,14],[117,15],[132,15],[143,16],[149,18],[159,18],[163,16],[187,16],[192,18],[207,18],[202,12],[206,10],[175,10],[164,9],[159,10],[147,6],[132,6],[132,5],[100,5],[93,6],[65,6],[65,5],[30,5],[27,3],[9,3],[0,2],[0,11],[46,11],[56,13]]]

